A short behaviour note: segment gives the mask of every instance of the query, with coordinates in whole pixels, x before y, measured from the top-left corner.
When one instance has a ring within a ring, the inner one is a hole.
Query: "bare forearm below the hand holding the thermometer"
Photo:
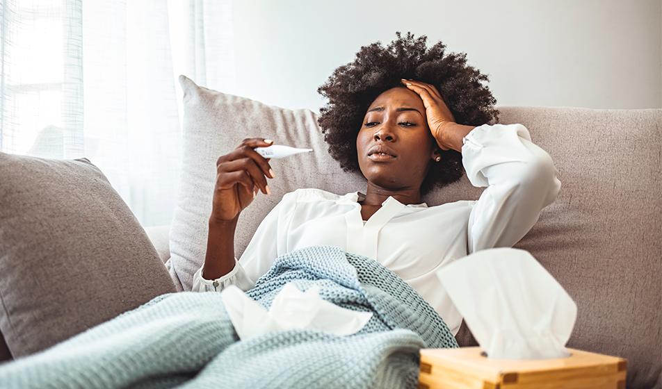
[[[202,278],[217,279],[225,276],[234,267],[234,231],[236,220],[232,222],[209,222],[207,235],[207,255],[204,258]]]

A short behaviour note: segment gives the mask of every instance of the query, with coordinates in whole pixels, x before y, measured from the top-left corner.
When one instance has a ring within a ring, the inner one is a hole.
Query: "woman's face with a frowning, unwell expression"
[[[356,138],[359,167],[368,181],[381,188],[419,189],[436,144],[419,95],[407,88],[391,88],[366,112]],[[373,154],[376,146],[385,147],[391,156]]]

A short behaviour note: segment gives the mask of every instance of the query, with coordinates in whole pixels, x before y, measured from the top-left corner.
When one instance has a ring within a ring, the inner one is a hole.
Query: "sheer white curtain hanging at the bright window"
[[[87,157],[143,225],[168,224],[177,76],[234,88],[232,1],[0,0],[0,22],[0,150]]]

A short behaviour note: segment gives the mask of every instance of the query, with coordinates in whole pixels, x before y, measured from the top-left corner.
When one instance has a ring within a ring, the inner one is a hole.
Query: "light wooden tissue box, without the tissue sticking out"
[[[421,349],[419,389],[625,388],[624,358],[567,349],[567,358],[487,359],[481,347]]]

